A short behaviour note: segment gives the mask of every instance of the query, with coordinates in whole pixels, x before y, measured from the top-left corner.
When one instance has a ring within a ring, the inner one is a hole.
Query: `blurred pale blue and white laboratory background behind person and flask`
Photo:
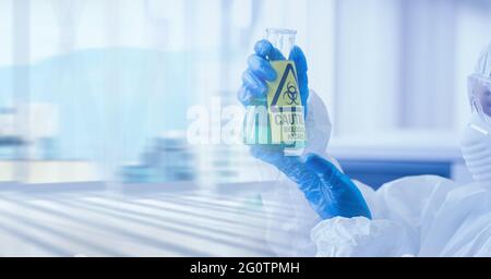
[[[268,27],[297,31],[352,179],[466,183],[489,26],[489,0],[0,0],[0,255],[273,255],[275,170],[187,136],[191,108],[227,124]]]

